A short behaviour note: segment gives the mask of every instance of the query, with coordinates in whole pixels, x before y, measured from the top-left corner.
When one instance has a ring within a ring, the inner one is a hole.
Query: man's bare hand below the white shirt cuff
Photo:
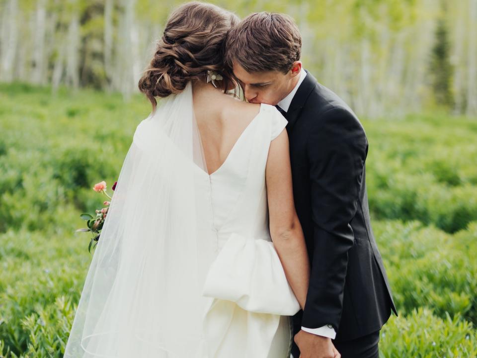
[[[295,343],[300,349],[300,358],[341,358],[331,338],[300,330],[295,335]]]

